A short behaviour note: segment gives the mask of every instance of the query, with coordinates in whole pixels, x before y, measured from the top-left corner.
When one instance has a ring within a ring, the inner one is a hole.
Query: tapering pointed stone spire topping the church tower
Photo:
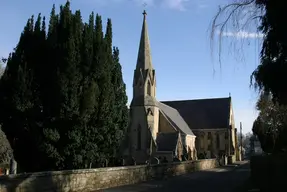
[[[143,12],[143,25],[140,39],[140,46],[138,52],[138,60],[136,69],[153,69],[151,61],[150,43],[148,37],[148,29],[146,22],[146,11]]]

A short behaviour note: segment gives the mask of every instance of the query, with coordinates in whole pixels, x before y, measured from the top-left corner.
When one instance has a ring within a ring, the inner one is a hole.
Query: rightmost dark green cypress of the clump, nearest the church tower
[[[109,75],[108,81],[110,85],[108,98],[109,115],[110,122],[112,122],[108,127],[105,144],[108,149],[108,157],[112,160],[117,155],[127,127],[127,96],[119,63],[119,50],[118,48],[112,48],[112,22],[110,19],[107,21],[105,44],[107,60],[106,72]]]

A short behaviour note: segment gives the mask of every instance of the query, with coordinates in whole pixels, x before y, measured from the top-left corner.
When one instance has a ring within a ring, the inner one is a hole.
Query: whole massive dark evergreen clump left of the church
[[[127,126],[125,85],[112,25],[82,21],[70,2],[48,29],[28,19],[0,81],[0,121],[23,171],[96,166],[110,160]]]

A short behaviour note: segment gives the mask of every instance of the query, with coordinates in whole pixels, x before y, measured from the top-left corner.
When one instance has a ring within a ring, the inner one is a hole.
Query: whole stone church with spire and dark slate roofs
[[[185,101],[156,99],[156,71],[145,11],[143,15],[125,155],[137,164],[154,157],[168,162],[214,158],[219,153],[236,157],[237,134],[230,96]]]

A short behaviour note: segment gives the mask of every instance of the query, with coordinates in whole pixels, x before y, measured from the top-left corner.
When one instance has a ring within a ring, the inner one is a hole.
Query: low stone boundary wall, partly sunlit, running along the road
[[[215,159],[0,177],[0,192],[94,191],[217,167]]]

